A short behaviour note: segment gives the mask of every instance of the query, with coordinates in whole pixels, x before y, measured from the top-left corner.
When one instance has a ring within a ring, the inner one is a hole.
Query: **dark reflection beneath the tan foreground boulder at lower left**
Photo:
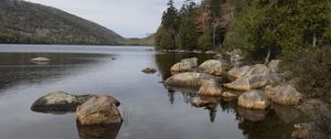
[[[116,139],[121,125],[83,126],[76,121],[81,139]]]

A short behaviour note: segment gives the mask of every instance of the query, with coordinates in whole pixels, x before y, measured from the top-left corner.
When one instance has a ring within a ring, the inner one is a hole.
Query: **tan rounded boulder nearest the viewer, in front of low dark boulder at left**
[[[76,117],[81,125],[121,124],[122,118],[110,96],[95,96],[78,106]]]

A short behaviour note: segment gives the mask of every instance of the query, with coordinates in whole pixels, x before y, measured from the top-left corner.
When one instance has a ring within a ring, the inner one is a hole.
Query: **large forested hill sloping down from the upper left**
[[[52,7],[0,0],[0,43],[120,44],[124,40],[114,31]]]

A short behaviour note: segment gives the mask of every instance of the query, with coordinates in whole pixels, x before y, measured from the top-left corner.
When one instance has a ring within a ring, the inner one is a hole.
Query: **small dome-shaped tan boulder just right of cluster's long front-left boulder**
[[[221,96],[222,93],[223,89],[215,79],[204,82],[199,89],[199,95],[204,96]]]

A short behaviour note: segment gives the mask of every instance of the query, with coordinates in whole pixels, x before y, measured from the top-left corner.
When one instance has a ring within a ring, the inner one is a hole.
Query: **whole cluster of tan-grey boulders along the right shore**
[[[239,66],[243,57],[234,51],[226,56],[217,54],[197,66],[197,58],[184,58],[171,67],[175,72],[166,86],[199,88],[199,95],[238,97],[238,106],[249,109],[266,109],[271,101],[280,105],[297,105],[302,95],[279,73],[279,60],[268,65]],[[220,83],[226,76],[231,83]]]

